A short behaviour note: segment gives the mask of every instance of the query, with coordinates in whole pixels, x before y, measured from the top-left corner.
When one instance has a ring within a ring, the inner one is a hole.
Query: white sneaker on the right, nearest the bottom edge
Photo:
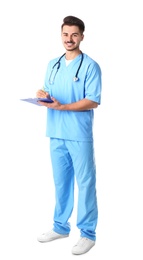
[[[72,248],[72,254],[81,255],[88,252],[95,245],[95,241],[87,238],[81,237],[77,244]]]

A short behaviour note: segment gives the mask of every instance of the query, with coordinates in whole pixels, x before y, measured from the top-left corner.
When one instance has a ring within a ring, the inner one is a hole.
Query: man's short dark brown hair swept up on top
[[[61,26],[61,29],[63,29],[64,25],[69,25],[69,26],[75,25],[75,26],[77,26],[79,28],[81,33],[83,33],[84,30],[85,30],[84,22],[82,20],[80,20],[79,18],[77,18],[75,16],[71,16],[71,15],[70,16],[66,16],[63,19],[63,24]]]

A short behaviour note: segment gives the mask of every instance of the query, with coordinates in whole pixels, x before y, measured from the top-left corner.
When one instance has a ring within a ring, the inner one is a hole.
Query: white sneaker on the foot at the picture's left
[[[37,240],[39,242],[50,242],[52,240],[55,240],[55,239],[59,239],[59,238],[65,238],[65,237],[68,237],[69,234],[59,234],[59,233],[56,233],[55,231],[51,230],[47,233],[43,233],[42,235],[40,235]]]

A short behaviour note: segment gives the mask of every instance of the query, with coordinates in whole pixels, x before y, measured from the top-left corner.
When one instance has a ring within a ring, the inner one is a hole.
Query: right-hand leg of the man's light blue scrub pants
[[[93,142],[66,141],[78,186],[77,227],[81,237],[96,240],[98,207]]]

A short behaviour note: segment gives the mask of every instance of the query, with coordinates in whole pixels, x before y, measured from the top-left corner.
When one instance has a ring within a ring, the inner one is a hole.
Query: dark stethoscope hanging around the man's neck
[[[61,62],[60,62],[60,61],[61,61],[61,59],[63,58],[63,56],[65,56],[65,53],[58,59],[58,61],[57,61],[57,62],[53,65],[53,67],[52,67],[52,70],[51,70],[51,73],[50,73],[50,76],[49,76],[49,84],[50,84],[50,85],[54,84],[55,77],[56,77],[57,72],[58,72],[58,70],[59,70],[59,68],[60,68],[60,65],[61,65]],[[75,76],[73,77],[73,81],[78,81],[78,80],[79,80],[79,78],[78,78],[78,73],[79,73],[80,67],[81,67],[81,65],[82,65],[82,62],[83,62],[83,53],[81,52],[81,61],[80,61],[80,64],[79,64],[79,66],[78,66],[77,72],[76,72]],[[52,79],[53,70],[54,70],[54,68],[55,68],[56,66],[57,66],[57,70],[56,70],[55,75],[53,76],[53,79]]]

